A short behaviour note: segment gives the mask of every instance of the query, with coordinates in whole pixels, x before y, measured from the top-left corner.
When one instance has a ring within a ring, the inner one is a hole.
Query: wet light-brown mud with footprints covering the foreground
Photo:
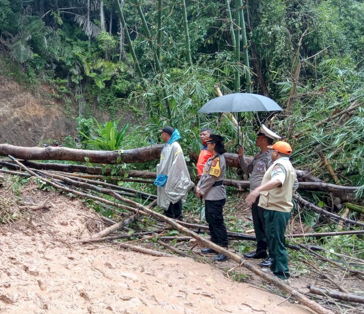
[[[81,244],[99,221],[92,209],[55,192],[23,197],[50,197],[50,210],[34,211],[33,227],[0,227],[1,313],[312,313],[210,264]]]

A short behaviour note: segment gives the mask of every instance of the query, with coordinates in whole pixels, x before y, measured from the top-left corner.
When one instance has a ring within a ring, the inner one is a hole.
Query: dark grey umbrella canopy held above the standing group
[[[235,93],[216,97],[199,109],[199,113],[244,112],[244,111],[282,111],[283,109],[268,97]]]

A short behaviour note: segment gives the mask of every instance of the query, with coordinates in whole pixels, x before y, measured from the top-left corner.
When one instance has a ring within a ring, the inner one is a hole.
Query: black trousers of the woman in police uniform
[[[222,215],[225,202],[226,198],[217,201],[205,200],[205,218],[209,224],[211,241],[222,247],[228,247],[228,234]]]

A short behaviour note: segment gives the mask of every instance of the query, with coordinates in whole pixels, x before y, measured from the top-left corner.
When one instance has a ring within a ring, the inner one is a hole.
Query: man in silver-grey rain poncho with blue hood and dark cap
[[[181,139],[180,132],[171,126],[165,126],[159,132],[165,146],[161,151],[157,177],[154,180],[158,187],[157,204],[165,210],[165,216],[182,220],[182,202],[186,200],[188,191],[194,184],[190,179],[182,148],[177,142]]]

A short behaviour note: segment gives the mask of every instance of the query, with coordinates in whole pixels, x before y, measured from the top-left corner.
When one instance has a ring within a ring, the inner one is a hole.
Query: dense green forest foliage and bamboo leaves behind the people
[[[72,99],[79,119],[91,118],[90,104],[115,120],[125,108],[148,116],[145,128],[138,130],[140,144],[155,138],[161,125],[172,124],[185,135],[185,147],[199,149],[196,135],[205,125],[226,135],[233,146],[233,123],[218,115],[198,115],[197,110],[215,97],[215,85],[232,92],[236,75],[238,90],[246,91],[249,72],[252,92],[286,109],[274,117],[260,115],[260,120],[269,118],[268,124],[292,142],[296,167],[334,182],[322,166],[322,152],[339,183],[363,186],[362,106],[315,126],[363,103],[363,1],[246,0],[248,47],[241,40],[239,3],[0,0],[0,38],[17,68],[9,72],[24,85],[52,84],[55,97]],[[231,27],[239,48],[232,45]],[[249,60],[244,60],[245,48]],[[252,155],[257,121],[250,114],[242,120],[244,145]]]

